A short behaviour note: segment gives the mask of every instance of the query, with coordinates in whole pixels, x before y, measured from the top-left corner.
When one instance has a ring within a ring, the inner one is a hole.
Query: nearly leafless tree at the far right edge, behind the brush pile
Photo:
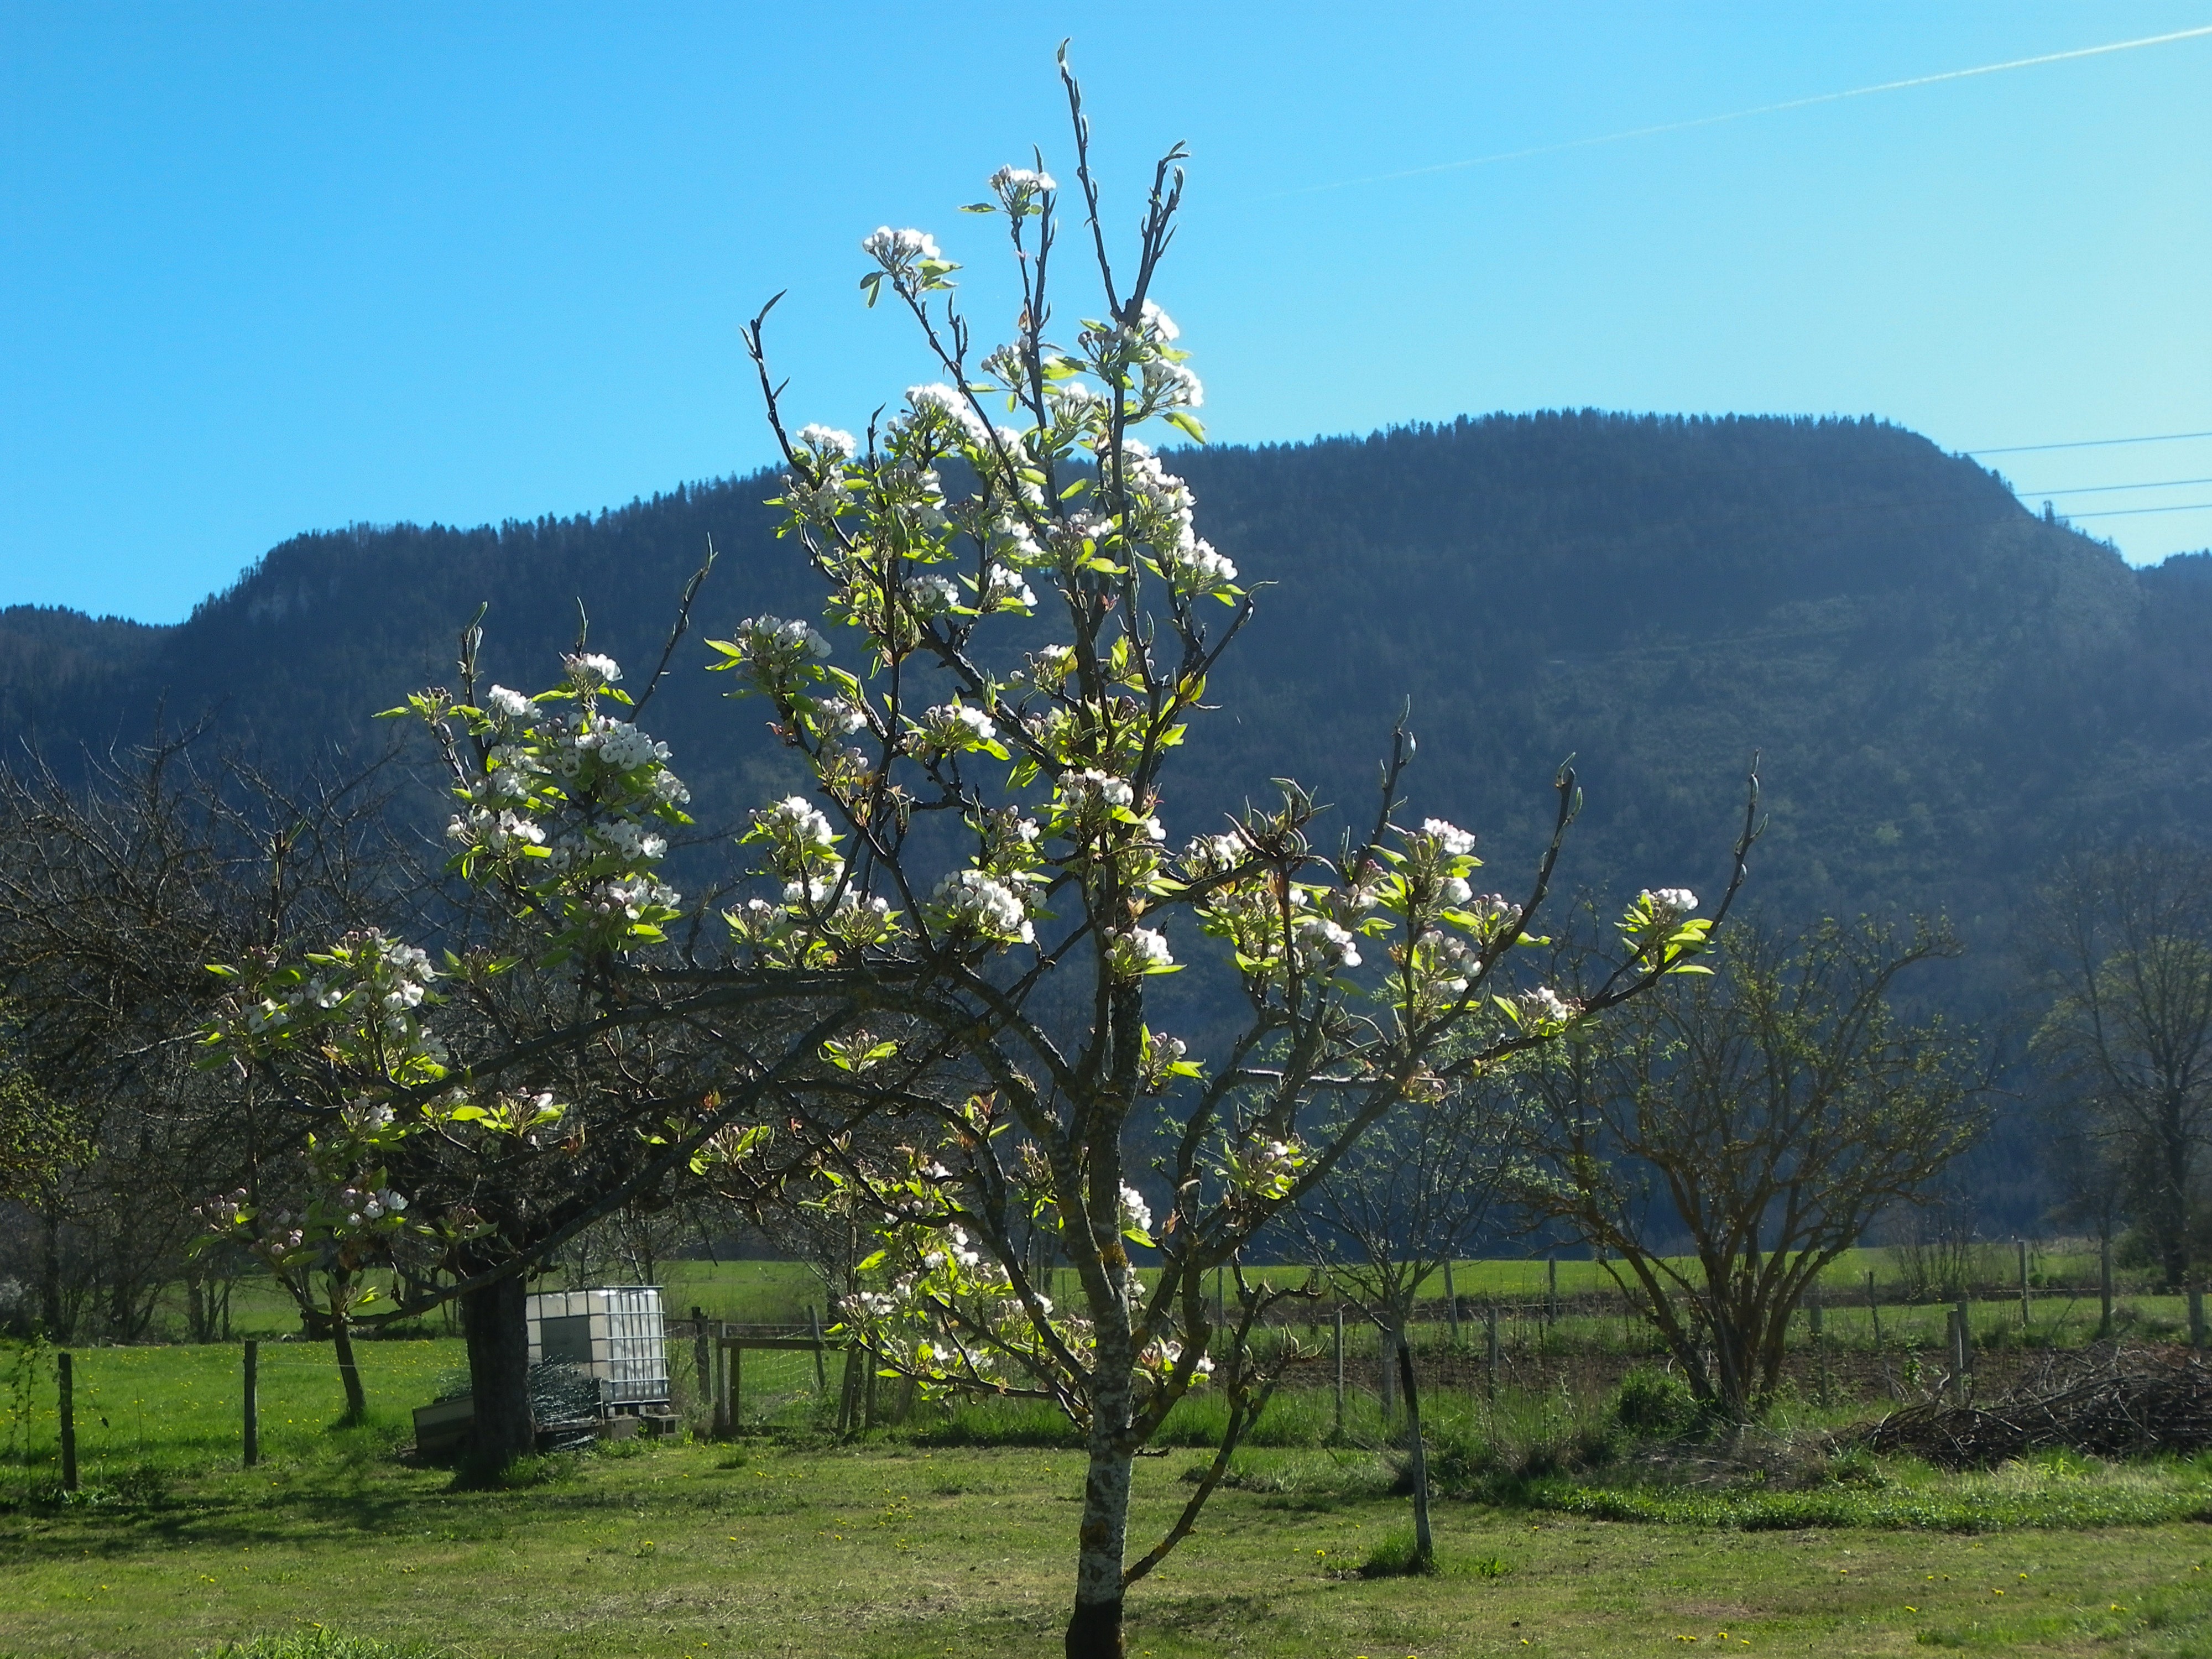
[[[2128,1208],[2179,1290],[2212,1135],[2212,854],[2075,854],[2037,891],[2026,931],[2051,998],[2031,1053],[2066,1128],[2135,1177]]]

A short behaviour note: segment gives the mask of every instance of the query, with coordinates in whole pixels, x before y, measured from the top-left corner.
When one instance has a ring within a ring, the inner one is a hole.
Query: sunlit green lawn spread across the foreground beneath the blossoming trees
[[[858,1447],[622,1447],[487,1493],[394,1458],[458,1343],[372,1345],[372,1422],[347,1431],[325,1427],[327,1360],[265,1349],[265,1462],[248,1473],[237,1349],[80,1354],[77,1502],[42,1491],[51,1394],[44,1416],[9,1418],[0,1655],[195,1655],[314,1626],[482,1659],[1057,1650],[1079,1455],[947,1444],[1020,1438],[1020,1413],[920,1413]],[[0,1385],[11,1367],[0,1352]],[[1431,1440],[1504,1431],[1471,1413],[1440,1398]],[[1442,1502],[1436,1577],[1369,1579],[1360,1564],[1407,1524],[1387,1460],[1314,1444],[1325,1394],[1263,1429],[1290,1444],[1241,1453],[1199,1535],[1133,1595],[1133,1655],[2212,1652],[2212,1528],[2185,1520],[2212,1513],[2212,1475],[2194,1462],[1889,1462],[1803,1493],[1537,1480],[1504,1504]],[[1139,1533],[1192,1462],[1139,1464]]]

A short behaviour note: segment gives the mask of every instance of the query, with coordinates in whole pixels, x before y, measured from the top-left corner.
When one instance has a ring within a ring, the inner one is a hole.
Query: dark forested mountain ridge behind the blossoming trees
[[[1365,814],[1407,699],[1416,807],[1482,832],[1509,887],[1571,752],[1590,807],[1568,883],[1717,883],[1761,750],[1770,909],[1944,909],[1982,942],[2057,847],[2208,821],[2212,557],[2130,571],[1898,427],[1491,416],[1172,465],[1201,531],[1270,586],[1170,834],[1274,776]],[[818,611],[770,493],[301,535],[173,628],[7,611],[0,732],[64,754],[206,719],[270,761],[374,750],[392,730],[369,714],[449,681],[482,602],[493,677],[549,681],[582,602],[635,684],[712,538],[699,628],[644,723],[703,823],[730,823],[796,774],[699,672],[699,637]]]

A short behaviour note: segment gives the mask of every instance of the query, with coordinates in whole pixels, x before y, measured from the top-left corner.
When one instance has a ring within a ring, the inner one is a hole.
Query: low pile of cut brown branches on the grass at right
[[[1869,1451],[1905,1451],[1973,1469],[2031,1451],[2130,1458],[2212,1447],[2212,1365],[2185,1349],[2104,1349],[2062,1360],[1980,1405],[1927,1400],[1851,1436]]]

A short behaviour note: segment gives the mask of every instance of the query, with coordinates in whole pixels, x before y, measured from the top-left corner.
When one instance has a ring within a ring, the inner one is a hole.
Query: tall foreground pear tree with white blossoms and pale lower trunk
[[[830,633],[752,617],[714,650],[741,695],[774,708],[814,783],[754,814],[748,838],[776,891],[730,911],[741,960],[867,987],[878,1020],[832,1048],[830,1095],[909,1124],[891,1157],[818,1141],[825,1179],[880,1245],[883,1287],[849,1323],[925,1387],[1026,1391],[1084,1427],[1066,1648],[1117,1655],[1126,1588],[1188,1535],[1272,1387],[1254,1329],[1279,1292],[1241,1272],[1261,1228],[1394,1104],[1701,971],[1717,918],[1646,891],[1621,918],[1621,973],[1590,995],[1515,984],[1509,956],[1579,805],[1573,772],[1555,781],[1526,896],[1478,894],[1475,838],[1400,816],[1402,730],[1378,810],[1334,854],[1296,785],[1274,810],[1170,841],[1166,768],[1254,599],[1197,533],[1190,487],[1137,436],[1159,422],[1203,438],[1199,378],[1155,299],[1183,153],[1159,161],[1135,254],[1117,263],[1062,73],[1088,314],[1057,327],[1060,186],[1040,157],[1000,168],[971,208],[1002,223],[1020,283],[995,349],[975,352],[960,268],[933,237],[865,239],[869,305],[902,307],[942,372],[865,436],[785,422],[768,312],[754,319],[790,469],[783,533],[825,582]],[[945,860],[925,823],[953,825],[962,854]],[[1752,834],[1747,810],[1730,900]],[[1206,1060],[1148,1018],[1190,949],[1219,958],[1245,1009]],[[1155,1115],[1157,1214],[1133,1168]],[[1073,1265],[1068,1305],[1033,1265],[1037,1232]],[[1203,1285],[1221,1267],[1239,1285],[1228,1318]],[[1133,1460],[1201,1385],[1228,1391],[1225,1440],[1181,1517],[1130,1557]]]

